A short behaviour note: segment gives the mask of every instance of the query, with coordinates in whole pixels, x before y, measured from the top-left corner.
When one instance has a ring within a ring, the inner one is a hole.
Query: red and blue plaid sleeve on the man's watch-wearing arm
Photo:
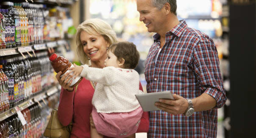
[[[200,89],[216,100],[214,108],[221,108],[226,101],[226,95],[216,46],[211,40],[199,42],[193,53],[194,69]]]

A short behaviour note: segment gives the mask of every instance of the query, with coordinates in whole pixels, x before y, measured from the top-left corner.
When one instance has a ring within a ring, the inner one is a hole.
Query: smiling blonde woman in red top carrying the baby
[[[117,42],[115,32],[103,20],[89,19],[78,26],[76,34],[77,52],[83,64],[88,64],[94,68],[104,68],[104,60],[107,57],[106,51],[115,42]],[[61,85],[58,119],[64,126],[72,122],[70,138],[90,138],[92,96],[97,84],[83,78],[75,92],[73,88],[69,87],[71,81],[67,83],[71,76],[65,74],[60,78],[60,74],[61,72],[56,75]],[[141,84],[140,89],[142,90]],[[149,117],[148,113],[144,112],[137,133],[147,132],[148,128]]]

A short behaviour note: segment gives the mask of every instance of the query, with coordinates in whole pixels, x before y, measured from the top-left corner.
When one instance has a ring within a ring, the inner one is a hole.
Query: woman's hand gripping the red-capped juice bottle
[[[73,88],[70,87],[72,83],[72,75],[70,75],[69,72],[65,73],[62,77],[61,76],[61,71],[57,73],[56,78],[58,80],[58,84],[63,87],[63,89],[67,89],[68,91],[73,91]],[[70,80],[71,79],[71,80]],[[70,80],[70,82],[68,82]]]

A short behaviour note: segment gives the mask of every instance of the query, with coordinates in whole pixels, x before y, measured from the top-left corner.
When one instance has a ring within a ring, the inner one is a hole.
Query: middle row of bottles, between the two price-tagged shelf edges
[[[47,52],[24,59],[0,59],[0,113],[28,100],[54,83],[54,73]]]

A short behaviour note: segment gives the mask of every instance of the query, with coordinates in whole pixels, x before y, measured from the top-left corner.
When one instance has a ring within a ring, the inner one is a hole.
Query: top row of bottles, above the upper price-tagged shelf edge
[[[0,3],[0,49],[45,43],[61,38],[61,20],[60,15],[56,14],[56,8],[50,9],[46,5]]]

